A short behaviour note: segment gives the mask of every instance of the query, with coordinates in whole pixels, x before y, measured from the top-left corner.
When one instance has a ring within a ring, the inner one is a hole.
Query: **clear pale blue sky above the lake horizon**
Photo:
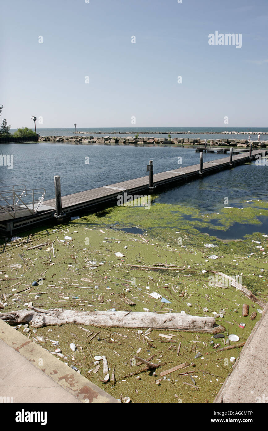
[[[268,0],[85,1],[3,0],[12,128],[268,126]],[[209,45],[216,31],[241,48]]]

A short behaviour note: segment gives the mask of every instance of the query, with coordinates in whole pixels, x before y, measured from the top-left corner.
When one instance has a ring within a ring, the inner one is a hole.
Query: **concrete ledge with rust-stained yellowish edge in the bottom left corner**
[[[0,397],[14,403],[119,403],[1,319]]]

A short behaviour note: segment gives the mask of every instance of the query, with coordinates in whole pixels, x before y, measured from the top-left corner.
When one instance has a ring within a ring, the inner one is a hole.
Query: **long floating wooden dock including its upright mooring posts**
[[[204,150],[207,150],[207,148]],[[31,228],[37,224],[44,225],[52,220],[57,222],[57,218],[55,218],[55,212],[56,214],[58,214],[58,212],[62,212],[61,217],[58,217],[58,219],[64,220],[68,219],[70,215],[81,215],[85,211],[98,211],[101,209],[101,207],[112,206],[116,204],[118,195],[122,195],[124,193],[132,196],[141,193],[152,194],[154,193],[155,189],[158,190],[160,187],[175,187],[185,183],[186,181],[192,181],[198,177],[204,177],[206,175],[219,172],[223,169],[229,169],[231,167],[247,163],[256,159],[256,156],[258,155],[265,157],[267,153],[267,149],[250,150],[250,152],[245,152],[244,154],[239,155],[233,155],[231,151],[231,154],[228,157],[216,159],[210,162],[204,162],[203,164],[204,153],[201,152],[200,164],[186,166],[184,168],[181,167],[172,171],[161,172],[153,175],[153,189],[149,188],[149,186],[152,185],[153,171],[151,171],[149,172],[149,175],[141,178],[135,178],[133,180],[122,181],[104,187],[98,187],[95,189],[63,196],[61,198],[60,211],[56,205],[56,200],[50,199],[43,201],[38,209],[38,212],[34,215],[29,214],[24,217],[11,219],[10,215],[7,214],[5,220],[5,217],[2,213],[0,220],[0,231],[2,234],[10,236],[16,232],[18,233],[19,231]],[[152,164],[150,163],[148,167],[149,166],[152,166]],[[150,169],[151,168],[148,170]],[[58,194],[57,199],[59,200]]]

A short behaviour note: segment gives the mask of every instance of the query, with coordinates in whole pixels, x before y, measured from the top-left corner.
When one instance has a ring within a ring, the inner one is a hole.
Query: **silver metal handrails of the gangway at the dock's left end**
[[[0,191],[0,201],[2,200],[5,203],[4,205],[0,204],[0,209],[6,211],[14,219],[16,218],[18,209],[21,209],[21,207],[27,208],[28,211],[34,215],[44,200],[46,190],[43,188],[26,190],[26,188],[24,188],[23,190],[15,191],[14,187],[16,186],[12,186],[12,190]],[[42,193],[42,195],[38,199],[35,199],[34,197],[37,193]],[[27,197],[30,197],[30,202],[26,202]],[[10,201],[12,201],[12,203]],[[20,202],[20,204],[18,204],[18,202]],[[30,205],[33,206],[32,209],[29,208]]]

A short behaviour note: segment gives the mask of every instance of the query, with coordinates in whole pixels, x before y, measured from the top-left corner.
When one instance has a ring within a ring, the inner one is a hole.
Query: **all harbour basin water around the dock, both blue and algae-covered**
[[[178,156],[182,156],[182,166],[199,159],[192,148],[26,144],[13,149],[20,162],[14,163],[14,170],[6,170],[2,184],[21,183],[21,178],[31,187],[41,187],[42,182],[47,197],[53,197],[56,174],[61,175],[63,190],[74,193],[144,175],[147,159],[156,161],[155,172],[178,169]],[[91,169],[86,171],[84,157],[89,150]],[[40,163],[31,169],[38,151]],[[210,160],[222,156],[205,155]],[[63,225],[21,232],[15,241],[2,238],[0,301],[4,311],[20,311],[32,303],[45,310],[216,316],[222,338],[172,329],[152,329],[146,335],[142,327],[138,331],[71,324],[30,327],[27,333],[34,342],[43,336],[43,346],[51,352],[58,342],[62,354],[58,360],[79,369],[116,399],[212,403],[233,369],[231,357],[238,359],[241,351],[234,341],[230,341],[234,349],[222,350],[228,335],[235,334],[243,344],[262,316],[260,303],[268,300],[268,203],[263,187],[267,169],[253,163],[238,166],[155,193],[150,209],[114,206],[95,214],[77,214],[79,219]],[[231,284],[219,282],[216,272],[238,278],[258,302]],[[38,281],[36,286],[33,281]],[[244,303],[250,307],[247,317],[242,317]],[[256,318],[251,320],[253,312]],[[18,331],[23,333],[24,327]],[[76,345],[75,352],[70,350],[71,343]],[[107,358],[108,382],[102,363],[99,368],[94,363],[99,355]],[[158,365],[155,374],[139,365],[136,356]],[[178,364],[184,364],[183,369],[161,377],[160,373]]]

